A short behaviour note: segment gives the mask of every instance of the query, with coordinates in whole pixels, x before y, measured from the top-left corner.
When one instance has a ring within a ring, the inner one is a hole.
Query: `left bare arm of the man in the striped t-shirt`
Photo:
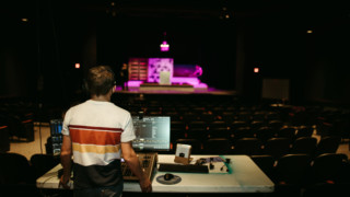
[[[68,182],[71,175],[71,167],[72,167],[72,142],[70,136],[63,135],[63,141],[61,147],[61,164],[63,166],[63,175],[60,177],[60,185],[63,188],[69,189]]]

